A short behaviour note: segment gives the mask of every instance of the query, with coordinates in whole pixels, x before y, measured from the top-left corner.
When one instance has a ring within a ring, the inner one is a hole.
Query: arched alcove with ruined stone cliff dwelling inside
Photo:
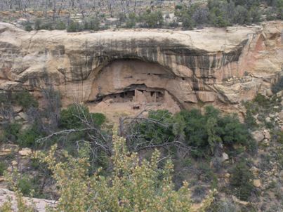
[[[161,65],[142,60],[114,60],[103,67],[93,80],[91,102],[93,111],[107,110],[129,113],[136,110],[180,110],[170,91],[170,81],[183,81]]]

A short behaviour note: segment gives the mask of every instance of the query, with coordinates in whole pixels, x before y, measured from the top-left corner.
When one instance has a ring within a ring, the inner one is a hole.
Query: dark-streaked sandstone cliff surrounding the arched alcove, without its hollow
[[[88,90],[103,67],[117,60],[140,60],[160,65],[180,78],[180,93],[191,90],[190,94],[179,96],[180,102],[214,102],[225,93],[223,86],[215,85],[263,67],[263,60],[258,60],[258,54],[263,54],[256,50],[257,42],[260,37],[264,45],[269,41],[266,39],[279,39],[280,29],[282,23],[268,22],[251,27],[209,27],[195,31],[123,29],[67,33],[25,32],[1,23],[0,79],[37,90],[46,83],[43,78],[48,77],[49,83],[60,89],[64,97],[83,93],[79,95],[80,100],[87,101]],[[266,44],[263,48],[268,53],[272,51],[265,60],[277,70],[280,61],[272,60],[271,55],[276,56],[274,50],[282,50],[282,44],[277,42],[273,47]]]

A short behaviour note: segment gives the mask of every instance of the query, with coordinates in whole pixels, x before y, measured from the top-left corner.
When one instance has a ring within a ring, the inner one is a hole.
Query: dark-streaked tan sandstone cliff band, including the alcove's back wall
[[[67,104],[143,86],[166,91],[180,107],[237,103],[270,91],[283,65],[282,30],[282,22],[266,22],[180,32],[25,32],[1,23],[0,89],[52,84]]]

